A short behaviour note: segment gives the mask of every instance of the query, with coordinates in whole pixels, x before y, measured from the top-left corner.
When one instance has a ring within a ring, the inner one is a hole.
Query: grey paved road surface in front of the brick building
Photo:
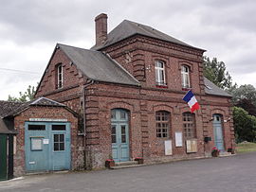
[[[256,152],[118,170],[27,176],[0,191],[256,191]]]

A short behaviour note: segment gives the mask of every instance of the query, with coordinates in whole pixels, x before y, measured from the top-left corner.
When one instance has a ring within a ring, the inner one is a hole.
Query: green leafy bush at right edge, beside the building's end
[[[234,131],[237,142],[256,141],[256,117],[242,108],[233,108]]]

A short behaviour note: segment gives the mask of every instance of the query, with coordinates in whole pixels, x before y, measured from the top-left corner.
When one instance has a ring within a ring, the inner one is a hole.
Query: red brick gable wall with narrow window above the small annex
[[[64,86],[61,89],[56,88],[56,65],[58,63],[63,64],[63,77]],[[82,95],[81,87],[85,79],[82,77],[82,73],[76,68],[74,64],[70,64],[70,60],[66,57],[61,48],[56,49],[52,59],[49,61],[49,65],[46,69],[46,74],[41,80],[39,89],[35,97],[46,96],[53,98],[60,102],[66,102],[75,112],[80,112],[80,97]],[[57,99],[58,98],[58,99]],[[75,104],[67,102],[69,100],[75,100]]]

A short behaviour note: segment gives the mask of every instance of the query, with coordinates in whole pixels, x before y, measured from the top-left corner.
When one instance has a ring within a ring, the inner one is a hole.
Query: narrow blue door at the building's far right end
[[[224,151],[222,116],[213,114],[214,146]]]

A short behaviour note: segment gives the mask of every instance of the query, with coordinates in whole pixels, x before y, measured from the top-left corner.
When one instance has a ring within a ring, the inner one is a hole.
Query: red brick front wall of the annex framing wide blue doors
[[[14,128],[18,131],[16,153],[14,154],[14,175],[25,173],[25,122],[29,118],[55,118],[67,119],[71,123],[71,168],[82,169],[83,162],[83,137],[78,136],[78,119],[73,113],[60,107],[29,107],[14,118]]]

